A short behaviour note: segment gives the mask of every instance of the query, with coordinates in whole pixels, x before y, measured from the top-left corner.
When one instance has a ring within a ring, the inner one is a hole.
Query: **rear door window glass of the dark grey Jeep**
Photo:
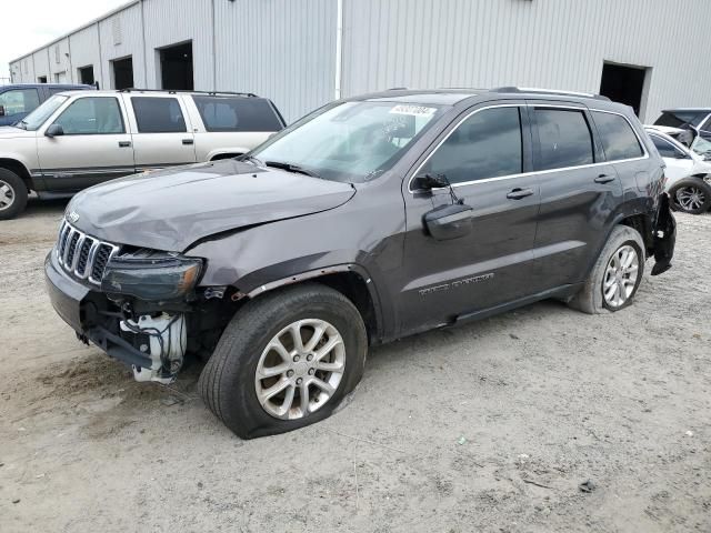
[[[540,145],[537,170],[594,163],[592,134],[582,110],[535,108],[534,114]]]

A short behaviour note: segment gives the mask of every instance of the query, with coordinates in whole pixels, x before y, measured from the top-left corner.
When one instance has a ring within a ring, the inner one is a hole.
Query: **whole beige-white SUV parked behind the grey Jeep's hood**
[[[0,219],[40,198],[144,170],[250,151],[284,128],[274,104],[246,93],[72,91],[0,128]]]

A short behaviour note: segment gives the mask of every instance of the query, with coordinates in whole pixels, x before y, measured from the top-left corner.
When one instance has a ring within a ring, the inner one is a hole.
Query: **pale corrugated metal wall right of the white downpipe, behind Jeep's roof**
[[[346,0],[344,21],[346,95],[389,87],[598,92],[607,60],[652,68],[648,120],[663,107],[711,104],[707,0]]]

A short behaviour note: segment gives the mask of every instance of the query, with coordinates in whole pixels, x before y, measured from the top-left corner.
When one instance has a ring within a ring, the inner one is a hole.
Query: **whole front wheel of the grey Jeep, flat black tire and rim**
[[[290,329],[294,324],[298,329]],[[323,329],[321,340],[309,350],[313,340],[309,332],[316,335],[319,328]],[[293,331],[299,331],[304,350],[298,351]],[[317,362],[330,344],[333,348]],[[350,300],[318,283],[291,286],[252,300],[237,312],[202,370],[200,393],[210,411],[242,439],[284,433],[328,418],[361,380],[367,351],[365,326]],[[321,370],[339,364],[340,372]],[[288,370],[269,378],[257,374],[258,370],[271,374],[278,368]],[[283,384],[288,386],[263,400]],[[330,386],[330,393],[322,385]],[[306,405],[301,401],[304,386]],[[263,393],[261,402],[258,389]],[[288,395],[291,409],[283,411]]]

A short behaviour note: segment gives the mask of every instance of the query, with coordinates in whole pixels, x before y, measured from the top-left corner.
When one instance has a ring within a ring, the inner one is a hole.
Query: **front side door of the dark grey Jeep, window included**
[[[539,209],[538,178],[530,170],[525,108],[518,102],[468,111],[445,131],[410,180],[399,316],[412,330],[504,304],[529,294]],[[421,175],[451,183],[418,189]],[[463,237],[438,240],[424,217],[461,202],[471,207]]]

